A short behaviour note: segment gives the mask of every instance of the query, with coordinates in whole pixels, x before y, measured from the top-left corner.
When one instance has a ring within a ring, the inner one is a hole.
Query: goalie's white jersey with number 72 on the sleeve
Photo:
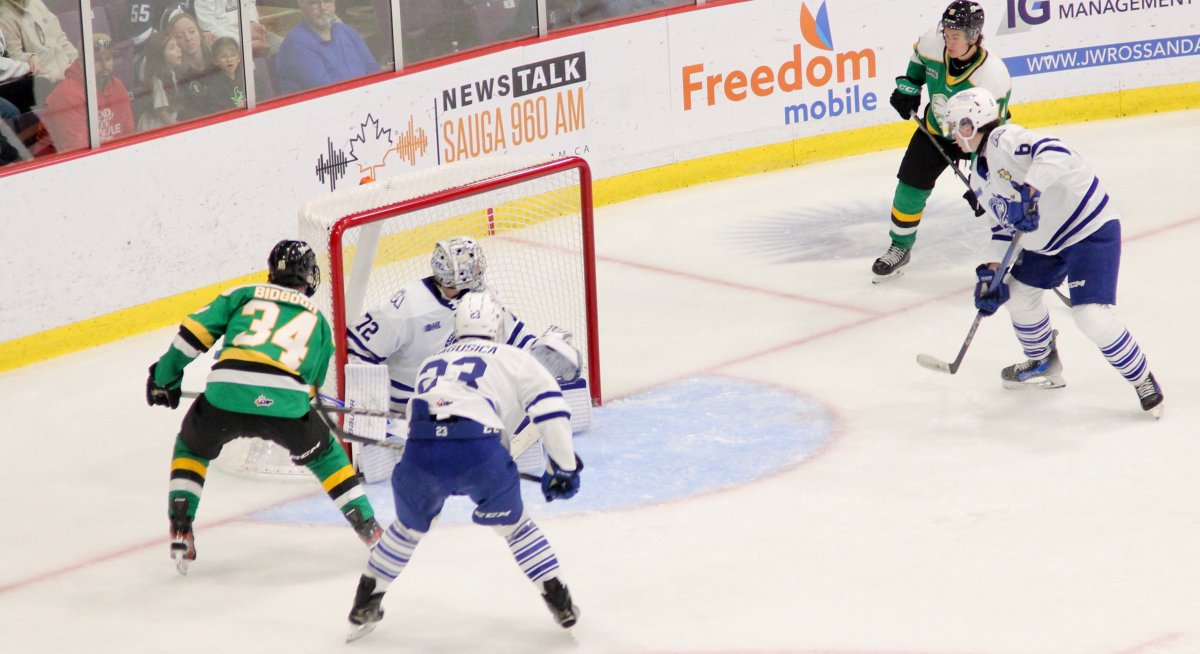
[[[442,296],[433,277],[400,289],[388,304],[347,325],[352,364],[385,364],[391,380],[390,410],[404,413],[421,361],[454,342],[457,300]],[[528,347],[535,336],[512,312],[504,311],[505,343]]]

